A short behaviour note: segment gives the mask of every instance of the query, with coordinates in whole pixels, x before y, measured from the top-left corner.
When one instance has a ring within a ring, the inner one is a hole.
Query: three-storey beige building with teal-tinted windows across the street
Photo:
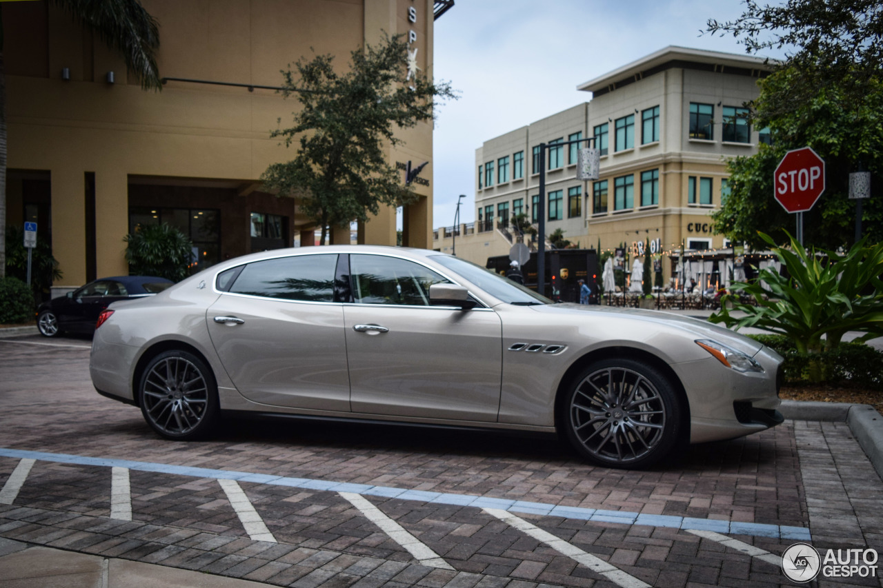
[[[539,220],[540,143],[587,138],[601,151],[597,181],[577,180],[576,146],[547,151],[547,235],[561,229],[580,247],[624,245],[632,255],[647,241],[657,256],[723,247],[709,214],[727,192],[726,159],[752,155],[765,139],[744,104],[767,71],[758,57],[668,47],[580,84],[591,102],[476,149],[477,221],[461,227],[457,255],[483,265],[507,253],[512,217]],[[449,252],[452,232],[437,230],[434,248]]]

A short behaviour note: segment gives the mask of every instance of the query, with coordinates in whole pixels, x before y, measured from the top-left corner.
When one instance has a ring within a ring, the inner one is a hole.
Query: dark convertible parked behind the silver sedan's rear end
[[[92,333],[98,315],[110,303],[153,296],[172,284],[174,282],[153,275],[117,275],[95,280],[40,305],[37,308],[37,329],[47,337],[64,331]]]

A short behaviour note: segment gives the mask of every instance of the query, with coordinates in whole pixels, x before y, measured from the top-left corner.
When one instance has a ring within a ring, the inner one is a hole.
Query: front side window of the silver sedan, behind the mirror
[[[384,255],[351,255],[352,297],[358,304],[429,305],[429,286],[449,283],[409,260]]]

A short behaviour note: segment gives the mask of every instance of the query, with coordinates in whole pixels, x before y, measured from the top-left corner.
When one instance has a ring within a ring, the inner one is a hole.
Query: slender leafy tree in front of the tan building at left
[[[274,163],[261,176],[280,195],[302,197],[307,216],[329,226],[366,222],[380,205],[403,206],[417,199],[401,172],[389,165],[389,146],[402,143],[395,132],[433,120],[437,98],[455,98],[447,83],[434,84],[409,70],[402,35],[351,53],[348,72],[338,73],[333,56],[300,59],[283,71],[283,95],[297,94],[301,109],[294,126],[273,137],[286,147],[298,142],[291,162]],[[280,120],[281,123],[281,120]]]

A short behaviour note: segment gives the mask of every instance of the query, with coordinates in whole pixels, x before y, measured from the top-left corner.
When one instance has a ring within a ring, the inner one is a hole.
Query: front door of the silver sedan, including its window
[[[350,255],[343,309],[353,412],[493,422],[500,405],[502,327],[487,308],[429,305],[449,280],[402,258]]]

